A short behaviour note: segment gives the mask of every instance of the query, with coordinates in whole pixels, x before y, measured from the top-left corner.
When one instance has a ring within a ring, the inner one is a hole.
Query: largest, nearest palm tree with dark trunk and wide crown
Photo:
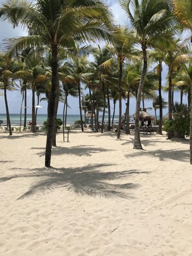
[[[99,0],[39,0],[33,2],[11,0],[0,8],[0,17],[14,25],[27,26],[32,35],[10,41],[10,54],[31,45],[48,45],[52,53],[52,89],[48,103],[48,131],[45,166],[50,167],[54,107],[58,87],[58,48],[75,48],[76,41],[111,39],[112,16],[107,5]],[[99,17],[99,18],[98,18]]]

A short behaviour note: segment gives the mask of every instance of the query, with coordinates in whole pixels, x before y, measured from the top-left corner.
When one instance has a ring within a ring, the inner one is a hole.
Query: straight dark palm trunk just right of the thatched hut
[[[158,134],[162,133],[163,124],[163,107],[162,107],[162,60],[158,63],[159,74],[158,74],[158,98],[159,98],[159,124],[158,124]]]

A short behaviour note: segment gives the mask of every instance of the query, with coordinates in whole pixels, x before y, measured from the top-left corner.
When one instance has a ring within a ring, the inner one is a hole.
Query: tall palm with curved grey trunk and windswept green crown
[[[172,23],[169,3],[165,0],[122,0],[125,12],[131,19],[131,25],[136,30],[136,43],[142,47],[144,66],[138,87],[136,100],[136,118],[134,128],[134,149],[142,149],[140,142],[139,112],[145,74],[147,72],[147,47],[155,46],[156,41],[167,39]],[[134,15],[133,15],[134,14]]]

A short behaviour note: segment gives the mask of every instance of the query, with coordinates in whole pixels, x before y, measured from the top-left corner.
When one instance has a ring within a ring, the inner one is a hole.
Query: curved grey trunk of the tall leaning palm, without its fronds
[[[134,146],[133,146],[134,149],[143,149],[141,140],[140,140],[139,115],[140,115],[140,102],[141,102],[142,91],[144,87],[144,80],[147,72],[147,52],[146,52],[145,45],[142,46],[142,50],[143,50],[143,58],[144,58],[144,67],[142,70],[142,76],[138,86],[138,94],[136,98],[136,111],[135,111],[135,122],[134,122]]]

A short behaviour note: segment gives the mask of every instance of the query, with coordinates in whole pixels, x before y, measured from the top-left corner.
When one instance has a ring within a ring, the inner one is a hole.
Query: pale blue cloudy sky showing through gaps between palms
[[[128,25],[128,19],[127,15],[121,8],[121,6],[118,4],[118,1],[116,0],[105,0],[109,8],[111,8],[112,14],[114,16],[114,19],[116,20],[116,24],[121,25]],[[5,3],[5,1],[0,0],[0,6],[2,3]],[[27,36],[27,30],[21,30],[19,28],[13,28],[12,25],[7,23],[6,21],[0,21],[0,49],[1,44],[3,43],[3,39],[10,38],[10,37],[17,37],[17,36]],[[167,67],[164,65],[163,68],[163,85],[166,83],[165,77],[167,76]],[[162,94],[162,97],[165,101],[168,101],[168,95],[167,93]],[[18,91],[12,91],[7,92],[7,98],[8,98],[8,106],[9,106],[9,112],[10,114],[19,114],[21,109],[21,92]],[[42,95],[43,98],[43,95]],[[180,95],[178,93],[175,94],[175,101],[180,101]],[[184,103],[187,103],[187,98],[184,96]],[[30,114],[31,107],[32,107],[32,93],[28,90],[27,92],[27,105],[28,105],[28,114]],[[42,106],[42,108],[38,109],[39,114],[47,114],[47,103],[46,101],[41,101],[39,104]],[[78,107],[78,99],[69,97],[69,110],[68,114],[79,114],[79,107]],[[112,107],[112,103],[111,103]],[[136,107],[136,100],[134,98],[131,98],[130,101],[130,114],[134,114]],[[152,108],[153,104],[152,101],[145,101],[145,107]],[[113,110],[112,110],[113,111]],[[0,114],[4,114],[5,111],[5,101],[3,95],[0,96]],[[125,101],[122,101],[122,112],[125,112]],[[147,109],[147,112],[150,114],[155,114],[154,110]],[[167,113],[167,109],[164,109],[164,114]],[[58,114],[63,113],[63,103],[59,103],[58,108]],[[118,114],[118,103],[116,104],[116,112],[115,114]]]

